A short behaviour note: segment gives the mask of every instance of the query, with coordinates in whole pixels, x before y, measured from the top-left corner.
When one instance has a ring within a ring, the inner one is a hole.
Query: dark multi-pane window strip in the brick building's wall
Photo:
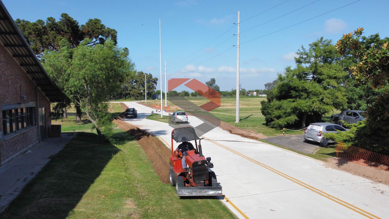
[[[35,125],[35,107],[7,109],[2,111],[3,135],[18,133]]]

